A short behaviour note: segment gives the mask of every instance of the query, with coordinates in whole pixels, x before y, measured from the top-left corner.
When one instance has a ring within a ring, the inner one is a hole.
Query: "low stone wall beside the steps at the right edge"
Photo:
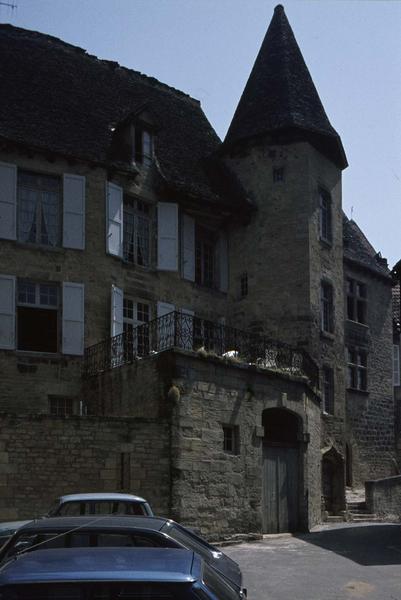
[[[401,476],[365,482],[370,513],[401,521]]]

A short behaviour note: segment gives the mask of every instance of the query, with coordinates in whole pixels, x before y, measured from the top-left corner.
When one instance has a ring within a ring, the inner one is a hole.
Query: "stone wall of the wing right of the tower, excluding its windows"
[[[346,263],[346,277],[366,285],[367,322],[346,321],[346,344],[368,353],[367,391],[347,389],[352,483],[395,475],[391,282]]]

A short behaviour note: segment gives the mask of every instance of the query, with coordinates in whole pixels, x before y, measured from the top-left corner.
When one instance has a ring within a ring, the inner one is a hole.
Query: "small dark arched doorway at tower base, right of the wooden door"
[[[322,494],[324,510],[336,515],[345,508],[344,459],[331,447],[323,451],[322,456]]]

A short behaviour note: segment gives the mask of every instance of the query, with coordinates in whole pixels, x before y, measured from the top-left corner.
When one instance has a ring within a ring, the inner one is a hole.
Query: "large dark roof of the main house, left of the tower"
[[[0,137],[101,164],[112,126],[146,106],[159,125],[155,153],[164,180],[223,202],[208,165],[221,142],[200,103],[186,94],[55,37],[4,24],[0,86]],[[230,183],[238,193],[229,202],[244,202],[239,185]]]

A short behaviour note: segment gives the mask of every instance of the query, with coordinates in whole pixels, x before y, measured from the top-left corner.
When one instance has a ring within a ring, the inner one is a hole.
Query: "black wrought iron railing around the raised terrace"
[[[303,349],[181,312],[171,312],[86,348],[84,376],[97,375],[174,347],[305,375],[318,387],[319,369]]]

